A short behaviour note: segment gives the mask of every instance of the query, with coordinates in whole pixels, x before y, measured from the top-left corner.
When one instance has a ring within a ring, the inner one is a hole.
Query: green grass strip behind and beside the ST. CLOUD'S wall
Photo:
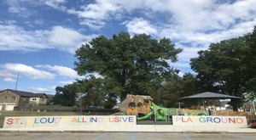
[[[6,116],[53,116],[53,115],[81,115],[80,112],[27,112],[27,111],[1,111],[0,128],[3,128],[3,121]]]

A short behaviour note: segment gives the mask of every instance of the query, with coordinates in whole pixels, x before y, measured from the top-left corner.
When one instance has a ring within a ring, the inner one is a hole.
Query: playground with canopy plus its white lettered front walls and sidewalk
[[[202,103],[205,98],[237,98],[212,92],[184,98],[196,96],[203,97]],[[247,128],[253,111],[218,110],[217,104],[210,110],[207,105],[165,108],[150,96],[128,94],[114,115],[6,116],[0,132],[256,132]]]

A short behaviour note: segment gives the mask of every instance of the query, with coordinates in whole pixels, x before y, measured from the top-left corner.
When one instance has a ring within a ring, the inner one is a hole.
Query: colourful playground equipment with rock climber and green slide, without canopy
[[[251,98],[251,95],[249,95]],[[255,96],[254,96],[255,97]],[[254,98],[253,98],[254,99]],[[252,100],[252,99],[251,99]],[[172,115],[219,115],[219,116],[246,116],[247,119],[255,119],[253,114],[248,114],[245,111],[233,111],[230,109],[216,110],[216,109],[181,109],[179,108],[165,108],[154,104],[153,98],[144,95],[128,94],[125,100],[119,105],[121,114],[123,115],[137,115],[137,120],[166,120],[172,121]],[[254,104],[253,104],[254,105]],[[253,106],[254,108],[254,106]],[[255,109],[255,108],[254,108]]]

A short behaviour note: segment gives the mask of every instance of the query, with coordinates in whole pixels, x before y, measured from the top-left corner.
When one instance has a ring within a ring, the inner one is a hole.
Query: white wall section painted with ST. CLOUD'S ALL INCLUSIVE
[[[135,115],[14,116],[5,117],[3,128],[136,124]]]

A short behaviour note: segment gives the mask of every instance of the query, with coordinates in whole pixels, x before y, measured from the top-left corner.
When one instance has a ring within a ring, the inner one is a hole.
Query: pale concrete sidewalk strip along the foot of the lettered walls
[[[195,132],[195,133],[256,133],[256,129],[244,127],[221,126],[172,126],[172,125],[136,125],[136,126],[55,126],[55,127],[25,127],[1,128],[0,132]]]

